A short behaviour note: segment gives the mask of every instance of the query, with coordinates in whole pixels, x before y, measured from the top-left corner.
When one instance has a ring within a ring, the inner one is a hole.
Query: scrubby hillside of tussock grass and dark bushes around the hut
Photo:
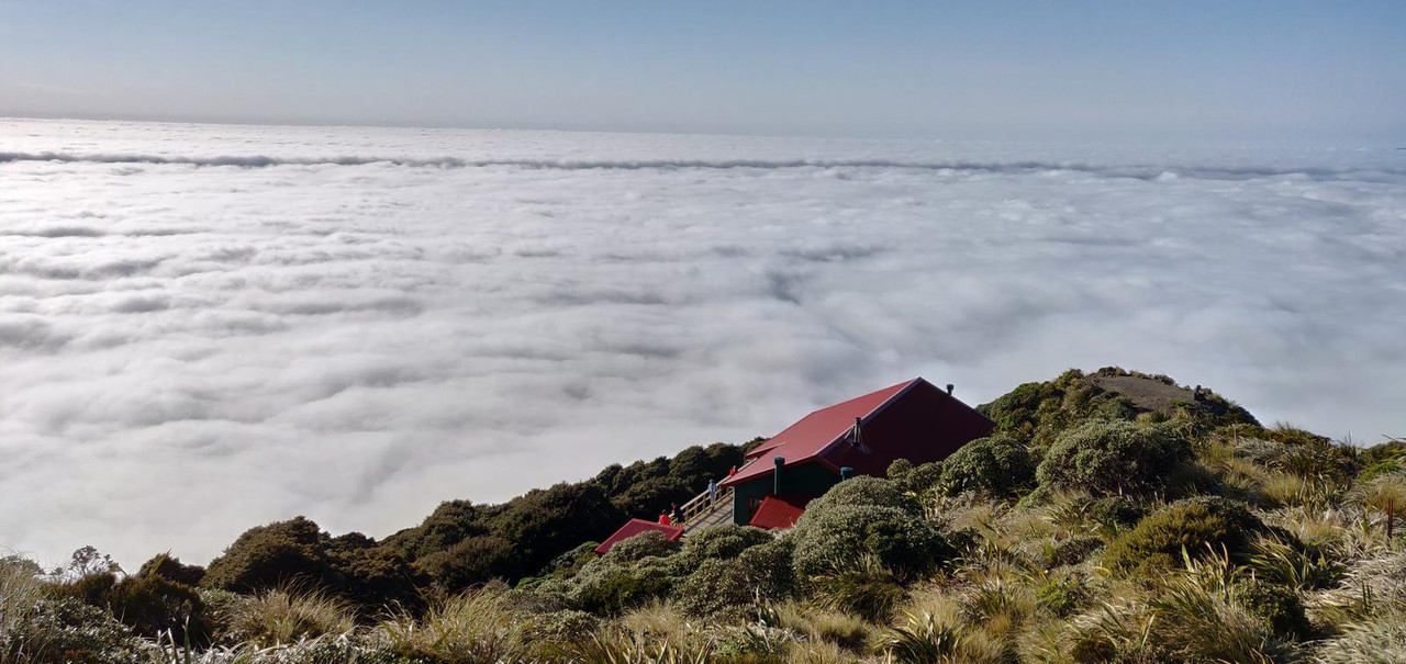
[[[1077,371],[980,406],[796,528],[641,535],[738,463],[689,448],[377,542],[297,518],[208,570],[0,564],[0,664],[39,661],[1406,661],[1406,441],[1264,427],[1166,376]],[[755,442],[755,441],[754,441]]]

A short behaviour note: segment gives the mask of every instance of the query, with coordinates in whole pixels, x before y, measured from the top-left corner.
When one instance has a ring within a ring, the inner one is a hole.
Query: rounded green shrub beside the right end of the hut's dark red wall
[[[993,498],[1007,498],[1028,491],[1035,484],[1035,458],[1021,441],[997,434],[977,438],[942,462],[938,487],[948,496],[974,491]]]

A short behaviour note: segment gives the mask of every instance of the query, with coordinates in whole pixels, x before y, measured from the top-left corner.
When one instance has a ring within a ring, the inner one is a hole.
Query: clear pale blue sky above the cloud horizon
[[[0,115],[1406,143],[1406,3],[3,1]]]

